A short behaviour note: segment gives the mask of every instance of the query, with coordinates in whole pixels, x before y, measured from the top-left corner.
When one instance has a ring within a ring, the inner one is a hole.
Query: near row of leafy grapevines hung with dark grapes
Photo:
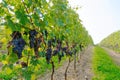
[[[76,70],[81,51],[93,44],[76,10],[67,0],[2,0],[0,79],[36,80],[51,71],[54,80],[66,60]]]

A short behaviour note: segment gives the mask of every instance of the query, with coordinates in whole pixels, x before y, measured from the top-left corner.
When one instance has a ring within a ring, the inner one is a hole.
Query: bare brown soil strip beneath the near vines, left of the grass
[[[74,71],[74,61],[71,62],[68,69],[68,80],[91,80],[92,73],[92,51],[93,47],[87,48],[84,52],[81,52],[82,56],[77,62],[76,71]],[[59,69],[55,70],[54,80],[65,80],[64,73],[67,67],[68,61],[66,61]],[[51,73],[48,73],[37,80],[50,80]]]

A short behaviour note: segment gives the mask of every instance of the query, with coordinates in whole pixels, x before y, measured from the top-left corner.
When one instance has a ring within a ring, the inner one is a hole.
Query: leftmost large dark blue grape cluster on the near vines
[[[20,59],[22,57],[22,51],[25,47],[25,40],[22,38],[21,33],[19,31],[14,31],[11,35],[12,37],[12,51],[18,55]]]

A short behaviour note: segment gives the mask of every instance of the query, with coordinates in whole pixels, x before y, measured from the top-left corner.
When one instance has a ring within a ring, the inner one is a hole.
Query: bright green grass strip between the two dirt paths
[[[120,80],[120,66],[117,66],[107,51],[96,46],[92,59],[93,80]]]

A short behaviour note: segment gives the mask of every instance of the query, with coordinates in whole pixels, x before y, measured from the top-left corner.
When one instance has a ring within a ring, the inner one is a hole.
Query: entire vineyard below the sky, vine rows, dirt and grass
[[[0,80],[120,80],[120,31],[95,45],[78,9],[0,0]]]

